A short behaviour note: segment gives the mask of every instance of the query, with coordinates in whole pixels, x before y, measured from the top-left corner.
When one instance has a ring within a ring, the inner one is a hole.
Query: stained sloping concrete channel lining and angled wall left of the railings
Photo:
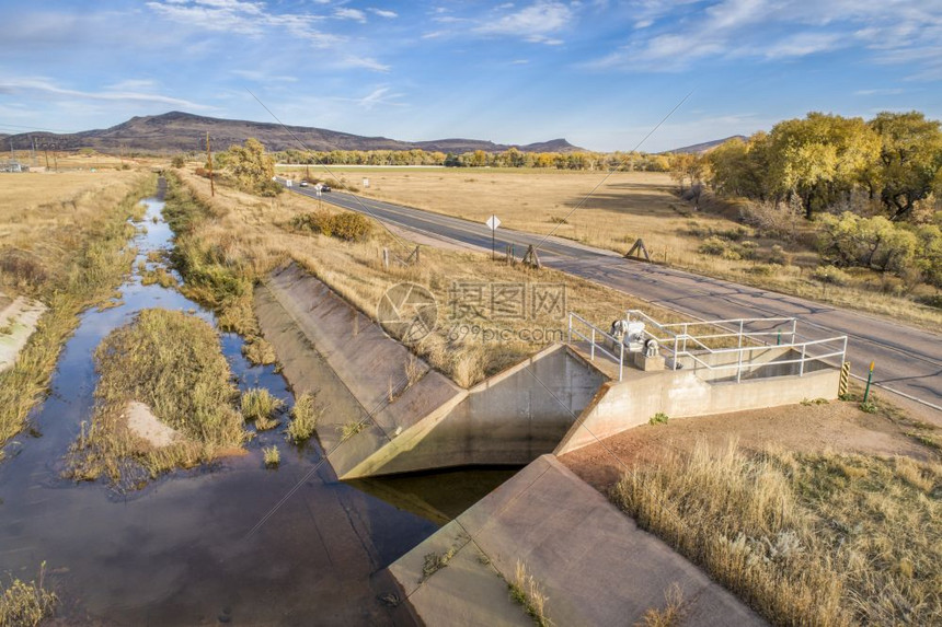
[[[462,390],[296,265],[256,289],[255,310],[295,392],[317,392],[318,437],[341,478],[527,464],[556,446],[606,380],[556,345]],[[410,362],[424,373],[412,385]],[[366,427],[344,441],[351,422]]]

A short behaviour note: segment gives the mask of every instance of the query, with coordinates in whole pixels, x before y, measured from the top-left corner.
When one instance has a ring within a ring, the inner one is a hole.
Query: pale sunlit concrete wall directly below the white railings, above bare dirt
[[[837,369],[822,369],[804,376],[744,379],[739,383],[708,382],[691,370],[632,373],[622,382],[602,385],[555,454],[644,425],[658,411],[685,418],[793,405],[805,398],[836,398],[839,379]]]

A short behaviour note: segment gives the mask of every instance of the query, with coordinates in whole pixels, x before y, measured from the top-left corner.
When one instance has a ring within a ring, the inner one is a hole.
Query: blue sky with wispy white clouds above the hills
[[[942,1],[0,0],[0,132],[180,109],[630,150],[808,111],[942,118]]]

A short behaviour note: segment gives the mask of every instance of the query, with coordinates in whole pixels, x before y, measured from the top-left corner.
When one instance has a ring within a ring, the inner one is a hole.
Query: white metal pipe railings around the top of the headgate
[[[662,351],[669,356],[669,368],[677,370],[687,362],[693,370],[735,371],[736,382],[743,373],[751,374],[766,367],[799,364],[799,376],[804,376],[811,362],[839,358],[842,363],[847,356],[847,336],[824,339],[809,339],[797,333],[797,318],[733,318],[662,324],[639,310],[627,312],[628,322],[643,322],[642,337],[657,341]],[[760,325],[753,330],[750,327]],[[704,333],[691,329],[706,327]],[[618,364],[618,380],[624,376],[624,353],[627,338],[617,338],[591,324],[581,315],[570,312],[568,341],[577,338],[589,344],[589,359],[595,361],[596,351],[610,357]],[[774,341],[772,341],[774,338]],[[735,344],[732,347],[713,348],[710,344]],[[733,341],[735,340],[735,341]],[[616,348],[617,347],[617,348]],[[784,357],[791,352],[795,357],[757,362],[757,351],[770,348],[784,349]],[[728,358],[727,358],[728,356]],[[720,363],[711,361],[723,360]],[[731,374],[732,376],[732,374]]]

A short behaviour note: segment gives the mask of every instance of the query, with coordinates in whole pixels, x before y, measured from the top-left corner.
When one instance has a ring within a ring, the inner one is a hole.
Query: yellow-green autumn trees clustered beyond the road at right
[[[942,125],[922,113],[809,113],[703,155],[671,155],[669,171],[692,196],[706,184],[771,221],[800,210],[815,221],[825,264],[942,288]]]

